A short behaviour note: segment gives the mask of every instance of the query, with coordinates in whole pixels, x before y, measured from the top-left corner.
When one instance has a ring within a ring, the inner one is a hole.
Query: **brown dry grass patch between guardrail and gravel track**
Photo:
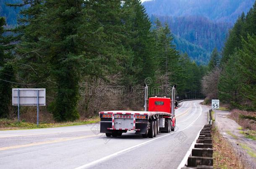
[[[217,127],[212,129],[214,168],[243,169],[243,163],[232,145],[219,133]]]

